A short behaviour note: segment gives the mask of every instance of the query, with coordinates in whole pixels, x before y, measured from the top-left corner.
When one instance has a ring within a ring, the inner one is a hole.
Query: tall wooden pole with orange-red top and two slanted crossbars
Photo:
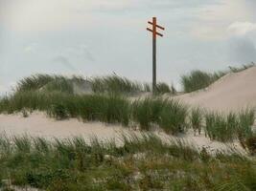
[[[152,17],[152,22],[149,21],[151,24],[152,29],[147,28],[149,32],[152,32],[152,92],[155,93],[156,91],[156,37],[163,36],[163,34],[157,32],[157,28],[160,30],[165,30],[165,28],[157,25],[156,17]]]

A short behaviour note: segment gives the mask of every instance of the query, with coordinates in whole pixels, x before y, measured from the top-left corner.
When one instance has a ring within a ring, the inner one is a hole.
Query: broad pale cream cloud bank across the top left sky
[[[17,32],[51,32],[98,26],[105,15],[124,11],[162,14],[173,9],[193,9],[217,4],[221,0],[0,0],[0,22]],[[125,14],[123,14],[125,15]],[[113,23],[115,20],[108,20]]]

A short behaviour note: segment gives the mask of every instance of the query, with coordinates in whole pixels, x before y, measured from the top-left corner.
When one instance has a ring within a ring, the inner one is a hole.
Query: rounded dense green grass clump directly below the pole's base
[[[184,133],[186,116],[186,106],[175,100],[146,98],[132,104],[132,117],[144,130],[157,124],[167,133]]]

